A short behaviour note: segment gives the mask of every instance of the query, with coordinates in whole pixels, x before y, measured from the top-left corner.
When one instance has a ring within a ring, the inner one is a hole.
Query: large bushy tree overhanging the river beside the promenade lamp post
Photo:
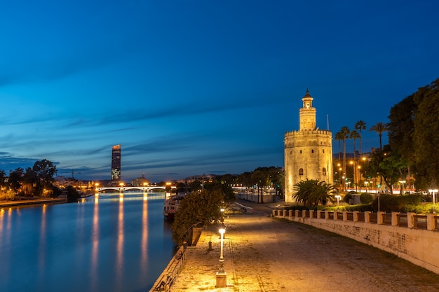
[[[233,196],[233,198],[232,198]],[[233,192],[223,183],[207,183],[200,192],[184,197],[173,223],[173,241],[180,245],[191,242],[191,229],[196,225],[209,225],[222,221],[221,208],[234,200]]]

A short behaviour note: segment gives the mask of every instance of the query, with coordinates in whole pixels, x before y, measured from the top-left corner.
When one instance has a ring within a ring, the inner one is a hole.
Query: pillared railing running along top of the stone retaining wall
[[[404,228],[417,228],[439,231],[439,216],[436,214],[400,214],[398,212],[371,211],[315,211],[315,210],[273,210],[273,216],[354,221],[378,225],[392,225]]]

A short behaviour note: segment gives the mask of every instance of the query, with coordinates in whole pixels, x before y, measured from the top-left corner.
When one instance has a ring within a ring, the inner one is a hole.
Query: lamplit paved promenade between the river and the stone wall
[[[227,287],[215,288],[220,239],[210,229],[188,247],[186,264],[170,291],[439,291],[439,275],[390,253],[271,218],[275,204],[241,203],[254,211],[225,218]]]

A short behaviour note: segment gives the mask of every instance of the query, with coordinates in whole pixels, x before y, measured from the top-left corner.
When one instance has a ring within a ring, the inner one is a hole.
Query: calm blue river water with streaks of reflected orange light
[[[149,291],[174,254],[164,193],[0,210],[0,291]]]

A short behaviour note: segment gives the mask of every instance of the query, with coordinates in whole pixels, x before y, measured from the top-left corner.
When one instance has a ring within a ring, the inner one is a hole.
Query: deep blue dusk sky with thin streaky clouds
[[[363,120],[370,151],[370,126],[439,78],[438,13],[437,0],[3,1],[0,169],[47,159],[109,179],[116,144],[123,181],[283,167],[307,89],[320,129]]]

